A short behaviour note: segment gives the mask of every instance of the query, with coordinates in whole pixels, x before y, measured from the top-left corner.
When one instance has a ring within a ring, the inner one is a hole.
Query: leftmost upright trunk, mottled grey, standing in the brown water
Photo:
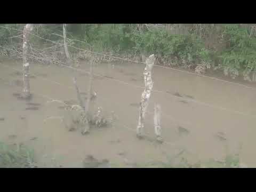
[[[29,33],[33,30],[33,24],[27,24],[23,29],[23,98],[30,98],[29,84],[29,62],[28,62],[28,42]]]

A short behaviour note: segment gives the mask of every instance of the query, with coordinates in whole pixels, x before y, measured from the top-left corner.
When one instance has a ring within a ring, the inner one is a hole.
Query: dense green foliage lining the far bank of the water
[[[24,25],[0,25],[22,29]],[[135,24],[68,25],[68,38],[77,47],[113,54],[154,53],[163,65],[196,69],[218,69],[231,77],[247,78],[256,67],[256,37],[253,25],[169,25],[148,27]],[[20,42],[22,31],[0,28],[0,44]],[[62,25],[36,26],[34,34],[61,40]],[[46,41],[31,37],[34,44]],[[212,41],[210,41],[212,39]],[[210,43],[209,43],[210,42]],[[71,50],[74,51],[74,50]]]

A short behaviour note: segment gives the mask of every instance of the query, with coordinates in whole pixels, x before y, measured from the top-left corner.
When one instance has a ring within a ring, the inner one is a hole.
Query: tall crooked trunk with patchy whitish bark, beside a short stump
[[[144,120],[146,115],[146,110],[148,107],[148,102],[151,94],[151,90],[153,89],[153,81],[151,78],[151,70],[154,66],[156,61],[155,55],[151,54],[148,59],[146,60],[146,67],[143,73],[144,81],[145,81],[145,90],[141,95],[141,102],[140,102],[140,113],[139,113],[139,123],[137,126],[137,137],[142,137],[142,129],[144,127]]]

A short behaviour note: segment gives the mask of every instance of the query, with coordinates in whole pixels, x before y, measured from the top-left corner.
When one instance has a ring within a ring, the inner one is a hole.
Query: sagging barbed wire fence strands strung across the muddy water
[[[2,27],[2,26],[0,26],[0,27]],[[2,28],[6,28],[6,29],[10,29],[10,30],[18,30],[18,29],[9,28],[9,27],[2,27]],[[22,31],[22,30],[19,30],[19,31]],[[42,63],[48,62],[48,63],[51,63],[51,64],[56,64],[56,65],[59,65],[61,67],[69,68],[69,69],[71,69],[73,71],[82,72],[82,73],[84,73],[86,75],[90,74],[90,71],[79,69],[79,68],[73,67],[73,66],[67,66],[66,62],[63,61],[62,59],[59,59],[59,58],[54,57],[54,56],[53,57],[49,57],[49,53],[52,52],[52,50],[54,50],[53,52],[56,55],[56,50],[58,48],[60,48],[60,47],[63,47],[64,46],[63,43],[52,41],[50,39],[45,39],[43,37],[40,37],[40,36],[35,35],[33,33],[30,33],[30,32],[29,32],[29,34],[33,35],[33,36],[35,36],[37,38],[44,39],[45,41],[51,42],[53,44],[50,47],[46,47],[44,49],[37,49],[37,50],[33,49],[33,47],[31,47],[31,45],[30,45],[30,51],[31,52],[28,54],[29,58],[35,59],[35,60],[37,60],[39,62],[41,61]],[[58,34],[55,34],[55,35],[58,35]],[[10,37],[10,38],[21,38],[21,37],[20,37],[20,35],[18,35],[18,36]],[[79,40],[68,39],[68,41],[72,42],[72,41],[79,41]],[[83,42],[83,41],[79,41],[79,42],[87,44],[86,42]],[[19,54],[22,55],[22,51],[21,50],[14,50],[14,49],[10,49],[10,48],[4,47],[4,46],[0,46],[0,47],[2,49],[5,49],[5,50],[14,51],[18,55]],[[115,55],[95,52],[95,51],[92,51],[92,50],[86,50],[86,49],[82,49],[82,48],[76,47],[76,46],[74,46],[72,44],[68,44],[68,47],[72,47],[73,49],[76,49],[77,51],[84,51],[84,52],[95,54],[95,55],[101,55],[103,57],[114,58],[114,59],[117,59],[117,60],[129,61],[129,62],[133,62],[133,63],[139,63],[139,64],[142,64],[142,65],[146,65],[146,62],[143,62],[143,61],[126,59],[126,58],[122,58],[122,57],[117,57]],[[45,50],[47,50],[47,51],[45,51]],[[63,57],[63,55],[60,55],[60,58],[61,57]],[[17,58],[20,59],[21,57],[17,57]],[[12,68],[12,67],[7,66],[7,65],[4,65],[3,63],[1,63],[1,66],[6,67],[6,68],[10,68],[10,69],[15,70],[15,71],[19,71],[20,73],[22,73],[21,70]],[[206,76],[206,75],[202,75],[202,74],[191,73],[189,71],[180,70],[180,69],[174,69],[174,68],[171,68],[171,67],[165,67],[165,66],[156,65],[156,64],[154,64],[154,66],[161,67],[161,68],[166,68],[166,69],[170,69],[170,70],[174,70],[174,71],[181,71],[182,73],[188,73],[188,74],[192,74],[192,75],[196,75],[196,76],[211,78],[211,79],[214,79],[215,81],[221,81],[221,82],[225,82],[225,83],[229,83],[229,84],[233,84],[233,85],[237,85],[237,86],[243,86],[243,87],[245,87],[247,89],[256,90],[254,87],[251,87],[251,86],[246,86],[246,85],[239,84],[239,83],[229,82],[229,81],[225,81],[225,80],[222,80],[222,79],[219,79],[219,78],[215,78],[215,77],[210,77],[210,76]],[[30,73],[30,75],[36,76],[36,74],[31,74],[31,73]],[[129,82],[121,81],[119,79],[106,77],[106,76],[103,76],[101,74],[93,73],[93,76],[105,78],[108,81],[114,81],[114,82],[117,82],[117,83],[121,83],[123,85],[131,86],[131,87],[134,87],[135,89],[142,89],[142,90],[145,89],[145,86],[135,85],[135,84],[132,84],[132,83],[129,83]],[[57,84],[57,85],[60,85],[60,86],[63,86],[63,87],[66,87],[66,88],[74,91],[74,87],[72,87],[72,86],[63,85],[63,84],[61,84],[59,82],[56,82],[56,81],[53,81],[52,79],[49,79],[49,78],[44,78],[44,77],[41,77],[41,76],[37,76],[37,77],[38,78],[42,78],[44,81],[47,81],[47,82],[50,82],[50,83],[53,83],[53,84]],[[6,83],[5,79],[1,78],[1,80]],[[9,84],[9,83],[7,83],[7,84]],[[167,93],[166,91],[156,90],[156,89],[152,89],[151,91],[152,92],[156,92],[156,93],[166,94],[167,96],[169,96],[171,98],[174,98],[174,99],[180,99],[180,97],[178,97],[177,95],[173,95],[171,93]],[[38,97],[43,97],[43,98],[47,99],[47,101],[49,101],[49,100],[50,101],[59,100],[59,99],[56,99],[56,98],[51,98],[48,95],[44,95],[44,94],[38,94],[38,93],[35,93],[35,92],[33,92],[33,94],[38,95]],[[97,97],[101,98],[102,100],[107,101],[106,103],[108,103],[108,101],[109,101],[108,98],[102,97],[101,95],[98,95]],[[255,115],[246,114],[246,113],[244,113],[242,111],[231,110],[231,109],[228,109],[228,108],[225,108],[225,107],[211,105],[210,103],[205,103],[205,102],[202,102],[202,101],[199,101],[199,100],[195,100],[195,99],[189,99],[189,98],[182,98],[182,99],[183,100],[187,100],[189,102],[194,102],[197,105],[203,105],[203,106],[207,106],[207,107],[210,107],[210,108],[215,108],[215,109],[219,109],[219,110],[228,111],[229,113],[235,113],[235,114],[239,114],[239,115],[249,116],[249,117],[255,118]],[[113,104],[113,103],[111,103],[111,104]],[[118,104],[114,103],[114,105],[118,105]],[[154,113],[150,112],[150,111],[147,111],[147,114],[154,115]],[[175,122],[177,125],[180,123],[180,121],[177,121],[177,119],[175,119],[172,115],[166,114],[164,112],[162,112],[162,114],[163,114],[164,117],[166,117],[168,119],[171,119],[171,121]],[[191,124],[191,122],[182,122],[182,123]],[[125,129],[127,129],[127,130],[136,132],[135,129],[131,128],[130,126],[125,125],[123,122],[119,123],[119,125],[125,127]],[[147,136],[149,137],[149,135],[147,135]],[[164,140],[164,143],[166,143],[167,145],[175,146],[175,144],[173,142],[170,142],[170,141]]]

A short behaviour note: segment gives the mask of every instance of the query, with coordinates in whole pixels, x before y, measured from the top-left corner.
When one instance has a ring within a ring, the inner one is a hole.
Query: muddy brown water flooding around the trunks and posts
[[[256,166],[256,154],[253,153],[256,145],[256,120],[253,117],[256,115],[256,89],[154,67],[153,89],[163,93],[151,94],[145,126],[145,133],[151,139],[138,140],[135,129],[143,90],[113,79],[143,86],[145,66],[115,63],[114,68],[110,68],[101,63],[95,66],[94,72],[110,78],[94,78],[93,89],[98,97],[92,106],[115,111],[118,121],[112,127],[92,129],[90,134],[82,135],[79,131],[66,130],[58,118],[44,119],[63,115],[60,103],[47,103],[50,98],[77,102],[72,77],[77,76],[79,89],[86,92],[89,82],[86,75],[68,68],[31,63],[30,70],[36,78],[30,79],[33,99],[26,101],[17,99],[22,91],[22,76],[11,69],[21,70],[22,62],[0,60],[0,64],[0,140],[34,148],[42,166],[83,167],[84,159],[93,156],[99,161],[107,159],[113,167],[129,167],[134,163],[167,161],[167,157],[184,149],[190,162],[209,158],[222,160],[227,153],[239,152],[243,163],[249,167]],[[79,68],[89,70],[89,65],[81,63]],[[251,116],[200,105],[191,100],[242,111]],[[154,103],[162,107],[162,134],[167,141],[163,144],[154,142]],[[220,132],[225,139],[217,137]]]

